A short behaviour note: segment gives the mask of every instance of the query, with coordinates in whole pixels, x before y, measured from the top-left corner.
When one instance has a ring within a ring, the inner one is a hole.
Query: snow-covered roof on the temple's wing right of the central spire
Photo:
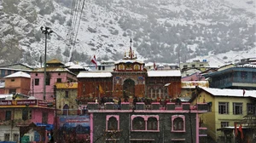
[[[148,71],[148,77],[181,77],[179,70]]]

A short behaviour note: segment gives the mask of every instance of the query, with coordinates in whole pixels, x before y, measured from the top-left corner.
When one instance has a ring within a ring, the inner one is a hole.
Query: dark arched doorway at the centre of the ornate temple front
[[[124,97],[135,96],[135,82],[129,78],[126,79],[123,85],[123,95]]]

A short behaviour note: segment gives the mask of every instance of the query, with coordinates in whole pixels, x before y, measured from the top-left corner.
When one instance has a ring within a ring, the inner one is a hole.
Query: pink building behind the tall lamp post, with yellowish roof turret
[[[44,67],[34,69],[31,72],[31,95],[40,100],[53,101],[55,83],[76,82],[73,72],[64,67],[59,60],[46,62],[46,87],[44,96]]]

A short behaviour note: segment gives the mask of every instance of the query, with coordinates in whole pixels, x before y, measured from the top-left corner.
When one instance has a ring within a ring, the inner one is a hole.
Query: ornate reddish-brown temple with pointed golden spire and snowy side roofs
[[[79,72],[78,100],[111,98],[173,99],[180,95],[179,70],[148,71],[131,51],[114,63],[113,72]]]

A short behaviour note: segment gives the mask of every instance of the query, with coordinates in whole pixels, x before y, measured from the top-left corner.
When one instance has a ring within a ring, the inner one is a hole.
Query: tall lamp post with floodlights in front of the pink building
[[[45,98],[45,85],[46,85],[46,52],[47,52],[47,36],[53,31],[49,27],[41,26],[40,30],[45,35],[45,49],[44,49],[44,100]]]

